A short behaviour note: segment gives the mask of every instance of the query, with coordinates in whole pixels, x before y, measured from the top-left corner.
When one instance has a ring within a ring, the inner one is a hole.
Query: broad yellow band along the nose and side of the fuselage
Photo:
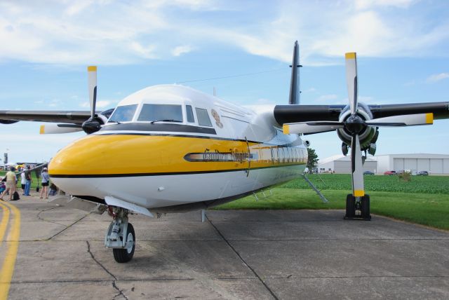
[[[257,160],[186,161],[190,153],[251,154]],[[116,175],[176,172],[245,170],[276,165],[303,164],[300,161],[274,163],[276,146],[245,141],[201,137],[157,135],[89,135],[69,144],[53,157],[50,175]],[[286,151],[286,150],[282,150]],[[287,152],[287,151],[286,151]]]

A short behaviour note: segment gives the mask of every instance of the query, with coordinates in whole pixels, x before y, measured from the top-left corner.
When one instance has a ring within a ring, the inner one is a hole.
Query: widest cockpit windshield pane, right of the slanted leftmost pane
[[[143,104],[138,121],[182,122],[182,107],[174,104]]]

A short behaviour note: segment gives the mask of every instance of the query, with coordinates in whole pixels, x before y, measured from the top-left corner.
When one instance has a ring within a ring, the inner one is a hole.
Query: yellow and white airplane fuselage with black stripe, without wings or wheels
[[[307,149],[283,135],[274,107],[239,107],[192,88],[153,86],[53,157],[51,179],[73,196],[112,196],[153,211],[213,205],[301,174]]]

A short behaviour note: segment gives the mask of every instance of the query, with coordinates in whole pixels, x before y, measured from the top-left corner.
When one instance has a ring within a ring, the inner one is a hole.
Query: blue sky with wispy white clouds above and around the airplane
[[[88,65],[98,65],[98,109],[162,83],[288,104],[295,40],[301,104],[347,104],[347,52],[361,102],[449,102],[445,0],[0,0],[0,109],[88,111]],[[39,135],[39,125],[0,124],[0,154],[48,161],[84,135]],[[377,154],[449,154],[448,128],[381,128]],[[340,154],[335,132],[307,139],[319,158]]]

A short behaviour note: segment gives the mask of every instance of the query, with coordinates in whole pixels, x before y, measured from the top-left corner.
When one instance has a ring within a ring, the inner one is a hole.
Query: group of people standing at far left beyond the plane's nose
[[[27,165],[23,170],[18,170],[20,173],[20,184],[22,187],[22,196],[31,196],[31,185],[33,182],[32,177],[32,169]],[[58,188],[50,182],[50,176],[48,175],[48,169],[43,168],[40,174],[41,176],[41,193],[40,198],[47,199],[48,196],[55,196],[58,191]],[[17,191],[18,185],[18,173],[16,173],[16,169],[11,167],[3,179],[0,182],[0,200],[6,200],[4,197],[8,196],[8,200],[18,200],[20,196],[18,196]],[[39,191],[39,179],[37,184],[36,191]]]

